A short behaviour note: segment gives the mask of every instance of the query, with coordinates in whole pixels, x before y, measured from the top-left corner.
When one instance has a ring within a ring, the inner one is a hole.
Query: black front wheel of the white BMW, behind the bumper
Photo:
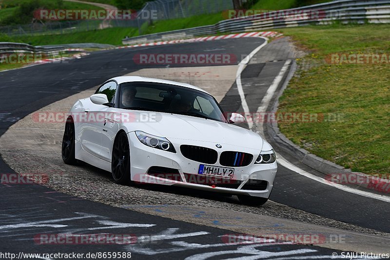
[[[120,132],[115,138],[111,172],[115,183],[130,184],[130,148],[125,132]]]

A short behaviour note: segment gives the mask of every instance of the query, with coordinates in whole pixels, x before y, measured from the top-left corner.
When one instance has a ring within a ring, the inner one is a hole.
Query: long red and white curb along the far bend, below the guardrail
[[[134,48],[134,47],[142,47],[142,46],[156,46],[156,45],[183,43],[183,42],[221,40],[221,39],[230,39],[230,38],[234,39],[234,38],[245,38],[245,37],[280,37],[282,35],[283,34],[280,34],[278,32],[252,32],[252,33],[228,34],[228,35],[220,35],[220,36],[207,36],[207,37],[197,37],[197,38],[190,38],[190,39],[179,39],[179,40],[158,41],[158,42],[151,42],[151,43],[127,45],[127,46],[117,47],[116,49]]]

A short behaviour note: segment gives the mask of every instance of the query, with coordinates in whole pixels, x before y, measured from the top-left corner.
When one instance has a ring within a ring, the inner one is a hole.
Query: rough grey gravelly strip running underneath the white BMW
[[[34,151],[32,151],[34,152]],[[2,150],[5,161],[21,174],[42,173],[49,176],[45,186],[79,198],[88,199],[117,207],[127,205],[189,205],[223,208],[246,213],[261,214],[311,223],[366,234],[389,237],[390,234],[356,225],[343,223],[269,201],[261,207],[239,204],[235,196],[226,197],[216,193],[161,185],[121,186],[111,179],[111,173],[89,165],[69,166],[56,153],[46,151]],[[51,169],[47,171],[47,169]],[[213,196],[213,199],[208,199]],[[137,208],[132,208],[137,210]]]

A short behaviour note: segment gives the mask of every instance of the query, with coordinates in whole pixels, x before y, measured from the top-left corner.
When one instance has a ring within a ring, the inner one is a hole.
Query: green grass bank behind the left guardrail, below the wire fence
[[[107,28],[102,30],[93,30],[87,32],[75,32],[68,34],[58,34],[48,36],[23,36],[13,37],[17,42],[29,43],[32,45],[66,44],[96,42],[113,45],[122,44],[122,38],[126,35],[136,35],[136,28]],[[1,39],[1,37],[0,37]]]

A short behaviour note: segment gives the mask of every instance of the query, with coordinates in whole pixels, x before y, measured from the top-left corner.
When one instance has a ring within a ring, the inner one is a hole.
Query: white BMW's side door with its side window
[[[117,83],[109,81],[100,86],[96,94],[106,94],[109,102],[113,102]],[[102,128],[105,120],[105,113],[110,108],[106,105],[97,105],[91,102],[90,107],[85,107],[86,122],[82,134],[81,145],[85,151],[97,156],[100,159],[106,159],[102,149]]]

